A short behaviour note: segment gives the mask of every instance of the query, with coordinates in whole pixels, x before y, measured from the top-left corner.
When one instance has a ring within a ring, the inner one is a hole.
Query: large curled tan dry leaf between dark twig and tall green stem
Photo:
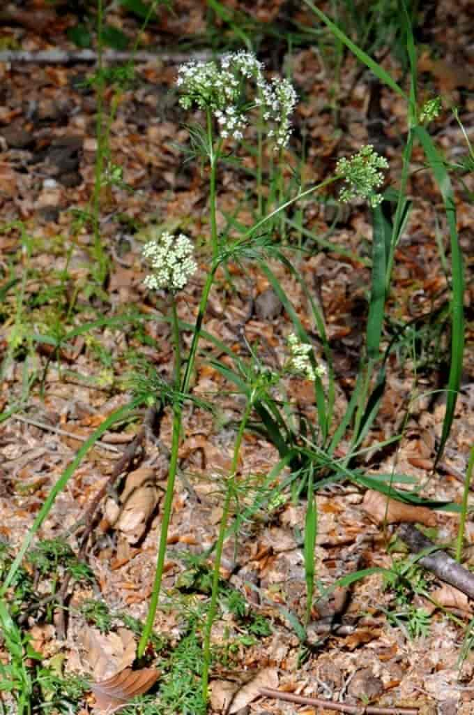
[[[123,533],[128,543],[136,543],[143,536],[157,503],[155,470],[142,467],[126,478],[119,504],[113,499],[106,502],[105,516],[111,526]]]

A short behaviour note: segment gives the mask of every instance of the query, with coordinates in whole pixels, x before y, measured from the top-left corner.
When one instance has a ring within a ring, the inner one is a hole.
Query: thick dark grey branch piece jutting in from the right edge
[[[428,551],[436,548],[435,543],[430,541],[423,533],[412,524],[402,524],[397,531],[397,535],[405,541],[410,551],[420,553],[420,551]],[[431,571],[438,576],[441,581],[450,583],[459,591],[465,593],[469,598],[474,598],[474,573],[468,571],[467,568],[461,566],[458,561],[448,556],[445,551],[440,549],[433,553],[428,553],[426,556],[421,556],[418,563],[423,568]]]

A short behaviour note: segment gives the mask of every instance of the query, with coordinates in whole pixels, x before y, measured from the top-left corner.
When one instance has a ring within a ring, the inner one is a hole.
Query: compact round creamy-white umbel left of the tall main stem
[[[143,247],[143,256],[153,271],[143,283],[150,290],[181,290],[198,270],[193,244],[183,233],[177,238],[168,231],[156,233]]]

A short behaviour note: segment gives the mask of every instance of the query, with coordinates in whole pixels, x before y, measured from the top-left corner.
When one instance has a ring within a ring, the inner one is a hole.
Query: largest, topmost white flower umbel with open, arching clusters
[[[268,136],[274,138],[277,149],[286,147],[296,92],[288,79],[267,82],[263,64],[252,52],[228,52],[221,57],[220,64],[216,61],[182,64],[176,82],[182,92],[181,107],[190,109],[197,104],[200,109],[209,109],[218,122],[223,139],[242,139],[249,109],[248,104],[243,104],[242,97],[245,80],[253,82],[255,87],[253,106],[261,107],[263,119],[274,125]]]

